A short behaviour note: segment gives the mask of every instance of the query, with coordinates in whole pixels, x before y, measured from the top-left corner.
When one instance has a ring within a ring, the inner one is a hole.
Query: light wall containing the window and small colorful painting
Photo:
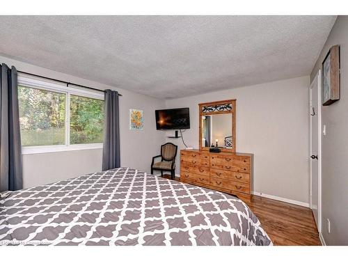
[[[40,68],[3,56],[0,56],[0,62],[6,63],[8,66],[15,65],[17,70],[70,81],[74,84],[91,86],[102,90],[107,88],[118,90],[122,94],[122,97],[120,97],[121,166],[150,172],[152,156],[159,154],[160,145],[165,141],[164,132],[156,130],[155,122],[155,109],[163,109],[165,106],[164,100]],[[145,122],[143,130],[129,130],[129,109],[141,109],[144,111]],[[100,171],[101,169],[102,150],[23,155],[24,188],[76,177],[81,174]]]

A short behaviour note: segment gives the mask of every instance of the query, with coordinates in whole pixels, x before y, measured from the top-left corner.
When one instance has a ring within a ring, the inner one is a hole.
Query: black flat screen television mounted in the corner
[[[189,129],[189,108],[156,110],[157,129]]]

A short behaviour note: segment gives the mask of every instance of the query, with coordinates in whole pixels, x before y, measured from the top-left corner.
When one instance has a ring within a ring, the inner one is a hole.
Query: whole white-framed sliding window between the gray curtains
[[[23,154],[102,148],[104,95],[19,77]]]

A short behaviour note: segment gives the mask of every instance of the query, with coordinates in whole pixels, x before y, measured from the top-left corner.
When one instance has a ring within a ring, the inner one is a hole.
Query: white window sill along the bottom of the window
[[[102,143],[78,144],[78,145],[52,145],[52,146],[28,146],[22,147],[22,155],[65,152],[74,150],[95,150],[102,149]]]

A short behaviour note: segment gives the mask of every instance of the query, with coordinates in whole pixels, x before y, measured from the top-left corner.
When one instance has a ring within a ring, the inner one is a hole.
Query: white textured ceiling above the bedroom
[[[0,55],[159,98],[310,74],[334,16],[1,16]]]

